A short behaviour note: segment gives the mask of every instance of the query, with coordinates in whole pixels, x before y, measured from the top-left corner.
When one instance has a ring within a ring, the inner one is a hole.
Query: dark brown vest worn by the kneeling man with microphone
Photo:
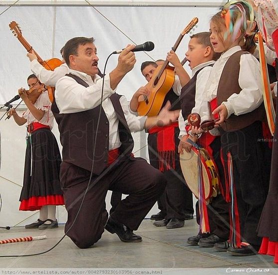
[[[89,86],[84,80],[74,74],[66,75],[85,87]],[[120,97],[121,95],[114,93],[110,96],[110,99],[119,119],[118,132],[122,143],[120,153],[129,157],[134,142],[119,101]],[[100,111],[97,134],[96,128],[100,105],[81,112],[60,114],[54,94],[51,109],[60,131],[63,161],[91,171],[94,160],[93,173],[99,175],[107,166],[109,150],[109,121],[103,108],[101,107]],[[95,136],[96,147],[93,156]]]

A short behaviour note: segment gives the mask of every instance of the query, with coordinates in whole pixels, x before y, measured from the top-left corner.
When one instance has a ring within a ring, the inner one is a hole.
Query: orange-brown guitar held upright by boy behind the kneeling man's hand
[[[186,28],[181,32],[176,43],[172,47],[172,50],[177,50],[177,47],[182,41],[183,36],[188,33],[197,23],[198,18],[194,17],[186,26]],[[150,92],[148,96],[143,96],[142,101],[139,101],[137,109],[139,115],[157,115],[161,109],[165,96],[173,86],[174,81],[174,67],[169,66],[169,61],[165,60],[163,65],[160,65],[156,68],[152,79],[145,86],[150,90]]]

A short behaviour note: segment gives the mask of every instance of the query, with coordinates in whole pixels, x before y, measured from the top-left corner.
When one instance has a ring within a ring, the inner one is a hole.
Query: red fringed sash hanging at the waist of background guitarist
[[[149,133],[157,133],[157,151],[159,160],[159,170],[165,171],[175,169],[175,128],[178,122],[174,122],[164,127],[152,127]]]

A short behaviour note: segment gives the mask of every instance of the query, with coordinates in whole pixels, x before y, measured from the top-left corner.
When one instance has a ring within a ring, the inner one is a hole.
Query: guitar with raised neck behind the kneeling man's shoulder
[[[33,49],[32,46],[25,40],[22,36],[21,29],[19,25],[15,21],[11,21],[9,23],[9,28],[12,31],[13,35],[17,37],[19,42],[23,45],[23,47],[28,51],[31,52]],[[51,58],[47,60],[42,60],[42,58],[37,54],[37,52],[33,49],[35,55],[37,56],[38,62],[43,65],[48,70],[54,70],[54,68],[60,66],[63,62],[58,58]],[[47,86],[48,96],[50,101],[53,101],[53,91],[54,87]]]

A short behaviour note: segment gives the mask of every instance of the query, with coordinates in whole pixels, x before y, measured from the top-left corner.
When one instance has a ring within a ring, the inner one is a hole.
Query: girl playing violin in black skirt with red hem
[[[8,112],[18,125],[27,122],[27,147],[19,210],[39,209],[38,220],[25,225],[25,228],[55,228],[58,227],[56,205],[63,205],[64,200],[59,182],[61,156],[51,132],[51,102],[44,84],[34,74],[28,76],[27,83],[29,90],[18,89],[27,111],[22,116],[14,108]]]

